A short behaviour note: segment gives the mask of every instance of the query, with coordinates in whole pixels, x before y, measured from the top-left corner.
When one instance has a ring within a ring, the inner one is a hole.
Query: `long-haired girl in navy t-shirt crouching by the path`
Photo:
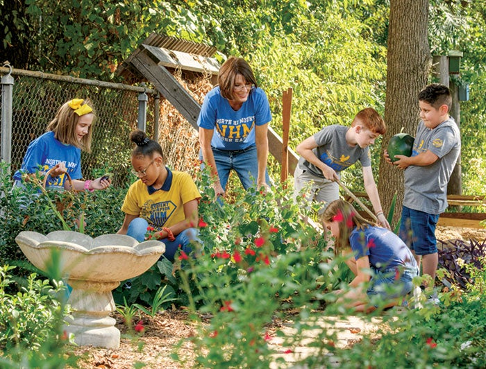
[[[376,309],[376,304],[370,304],[373,295],[385,301],[384,307],[392,307],[412,291],[412,279],[419,275],[419,268],[396,234],[362,218],[344,200],[330,203],[322,220],[335,237],[335,255],[351,254],[346,264],[355,275],[349,291],[335,291],[337,302],[369,312]]]

